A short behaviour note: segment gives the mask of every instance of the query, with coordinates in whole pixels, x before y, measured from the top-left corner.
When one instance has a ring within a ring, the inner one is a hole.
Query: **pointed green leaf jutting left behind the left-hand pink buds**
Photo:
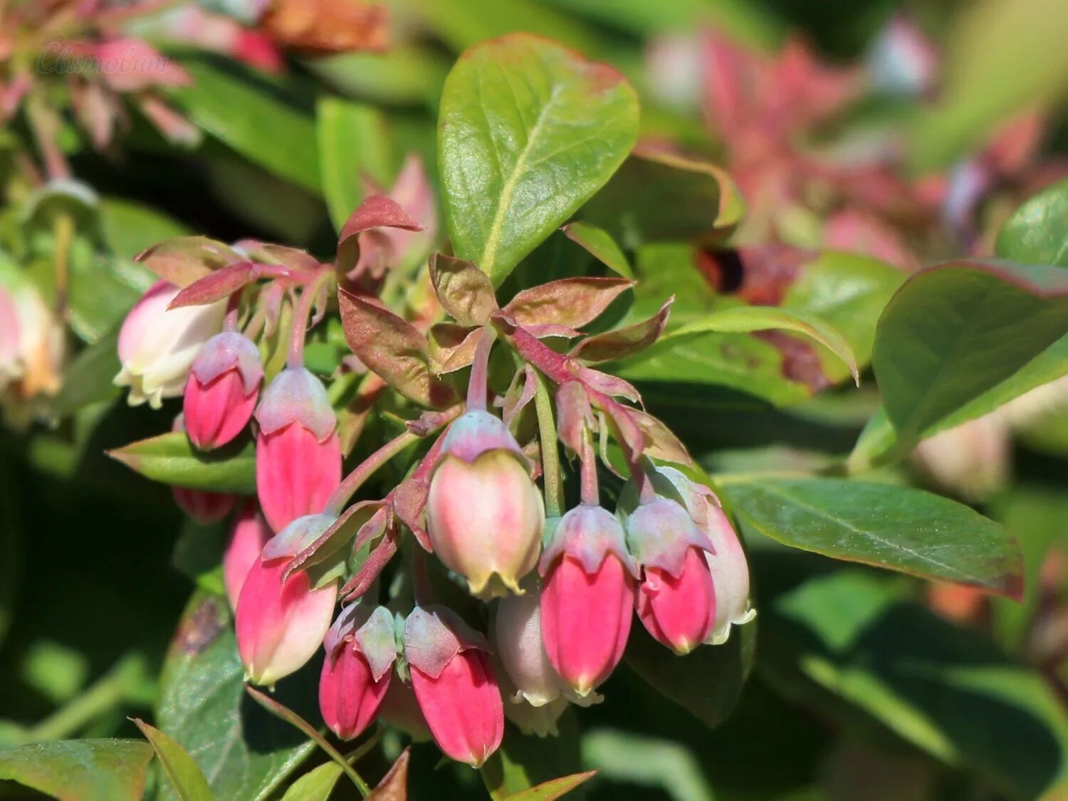
[[[108,456],[163,484],[239,494],[256,489],[255,446],[245,437],[202,453],[185,433],[171,431],[108,451]]]

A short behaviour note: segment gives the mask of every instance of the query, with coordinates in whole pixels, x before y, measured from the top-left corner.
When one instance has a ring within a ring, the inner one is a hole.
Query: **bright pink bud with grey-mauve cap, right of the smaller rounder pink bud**
[[[274,531],[321,512],[341,484],[337,419],[323,383],[303,367],[283,370],[256,409],[256,494]]]

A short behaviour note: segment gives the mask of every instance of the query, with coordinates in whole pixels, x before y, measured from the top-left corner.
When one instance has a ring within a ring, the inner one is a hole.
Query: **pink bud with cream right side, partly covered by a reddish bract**
[[[313,588],[305,570],[289,578],[285,570],[333,521],[329,515],[297,518],[264,546],[245,579],[235,615],[237,650],[254,684],[273,685],[299,670],[330,628],[337,581]]]

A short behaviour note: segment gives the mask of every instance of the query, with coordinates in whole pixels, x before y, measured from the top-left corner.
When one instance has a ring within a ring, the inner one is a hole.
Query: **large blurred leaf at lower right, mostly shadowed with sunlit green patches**
[[[761,674],[832,719],[829,698],[844,700],[1012,798],[1063,782],[1068,718],[1043,679],[899,596],[896,582],[851,569],[779,596],[765,608]]]

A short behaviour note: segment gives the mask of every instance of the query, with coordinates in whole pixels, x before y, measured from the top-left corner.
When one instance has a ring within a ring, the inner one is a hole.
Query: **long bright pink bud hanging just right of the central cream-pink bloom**
[[[575,507],[556,524],[538,569],[546,654],[585,697],[619,663],[630,635],[638,567],[623,527],[600,506]]]

